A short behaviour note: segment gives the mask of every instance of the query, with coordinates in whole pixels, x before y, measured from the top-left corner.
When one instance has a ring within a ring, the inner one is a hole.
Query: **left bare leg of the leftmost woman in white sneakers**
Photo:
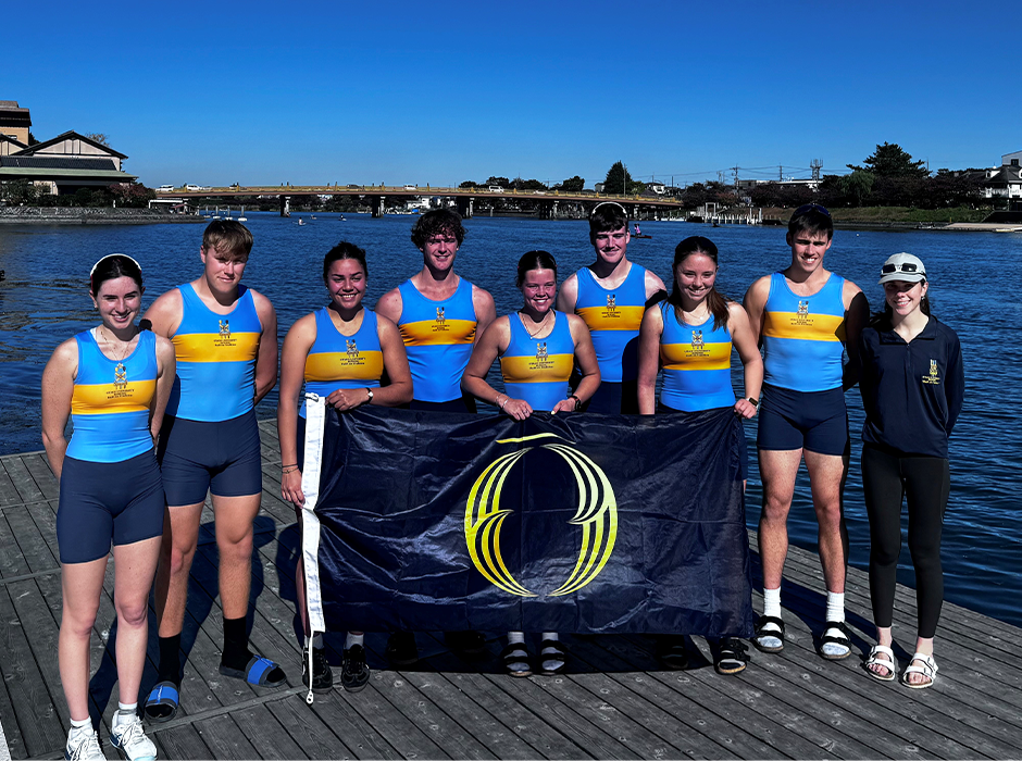
[[[89,563],[66,563],[61,567],[63,611],[57,658],[67,710],[74,721],[89,718],[89,637],[105,573],[105,556]]]

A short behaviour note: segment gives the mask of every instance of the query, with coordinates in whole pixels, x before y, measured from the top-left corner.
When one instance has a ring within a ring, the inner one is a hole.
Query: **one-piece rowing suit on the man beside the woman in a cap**
[[[759,448],[843,454],[848,414],[842,390],[845,279],[831,274],[812,296],[770,276],[763,308],[763,400]]]

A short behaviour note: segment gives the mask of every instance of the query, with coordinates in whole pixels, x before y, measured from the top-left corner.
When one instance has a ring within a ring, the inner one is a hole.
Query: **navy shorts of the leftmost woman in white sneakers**
[[[162,536],[164,508],[153,450],[121,462],[65,457],[57,509],[60,562],[105,558],[111,539],[120,546]]]

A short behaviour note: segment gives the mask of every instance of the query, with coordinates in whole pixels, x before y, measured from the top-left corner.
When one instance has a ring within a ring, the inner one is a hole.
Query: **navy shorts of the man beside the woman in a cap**
[[[848,410],[840,388],[793,391],[764,384],[759,410],[760,449],[808,449],[837,457],[849,450]]]

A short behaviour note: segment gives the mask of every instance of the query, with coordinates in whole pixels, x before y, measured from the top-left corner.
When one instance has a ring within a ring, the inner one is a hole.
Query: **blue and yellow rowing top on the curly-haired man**
[[[427,299],[412,282],[401,294],[398,329],[408,352],[415,402],[462,404],[461,376],[469,365],[477,321],[472,284],[463,277],[453,295],[443,301]]]

